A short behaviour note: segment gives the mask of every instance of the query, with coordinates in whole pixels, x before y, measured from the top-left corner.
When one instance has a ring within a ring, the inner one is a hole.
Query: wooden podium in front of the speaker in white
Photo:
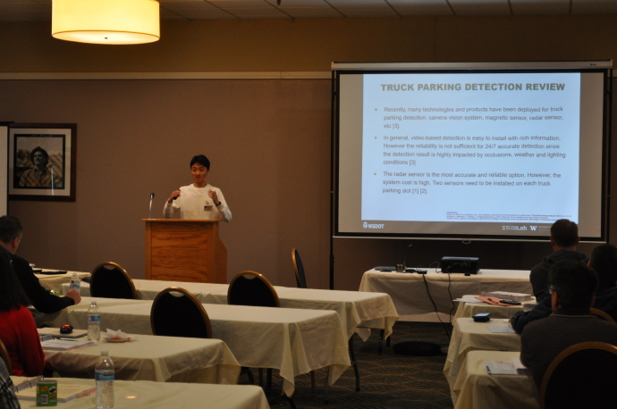
[[[227,282],[227,249],[220,220],[142,219],[146,222],[146,279]]]

